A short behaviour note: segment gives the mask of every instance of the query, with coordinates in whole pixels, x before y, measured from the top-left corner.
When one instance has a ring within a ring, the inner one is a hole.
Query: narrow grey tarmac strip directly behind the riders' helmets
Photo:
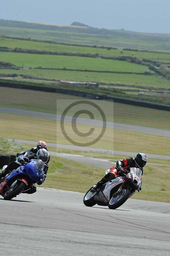
[[[24,144],[30,144],[30,145],[36,145],[37,141],[33,140],[18,140],[18,139],[9,139],[13,140],[19,143],[24,143]],[[113,149],[106,149],[106,148],[90,148],[90,147],[80,147],[80,146],[74,146],[74,145],[66,145],[66,144],[58,144],[58,143],[47,143],[48,147],[55,148],[56,151],[58,148],[63,148],[63,149],[69,149],[69,150],[79,150],[79,151],[88,151],[90,153],[93,153],[94,151],[109,151],[111,152],[110,154],[115,154],[115,155],[123,155],[123,156],[135,156],[136,153],[138,152],[129,152],[129,151],[119,151],[119,150],[113,150]],[[93,151],[93,152],[91,152]],[[62,153],[62,152],[61,152]],[[149,158],[152,159],[162,159],[162,160],[170,160],[170,156],[166,155],[157,155],[157,154],[149,154],[145,152]],[[61,156],[60,156],[61,157]]]

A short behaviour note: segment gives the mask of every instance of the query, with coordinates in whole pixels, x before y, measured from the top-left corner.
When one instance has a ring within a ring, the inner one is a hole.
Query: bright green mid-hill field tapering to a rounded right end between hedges
[[[11,62],[19,67],[23,66],[29,68],[42,67],[104,70],[115,72],[149,72],[149,68],[147,66],[137,65],[126,61],[74,56],[0,52],[0,60],[5,62]]]

